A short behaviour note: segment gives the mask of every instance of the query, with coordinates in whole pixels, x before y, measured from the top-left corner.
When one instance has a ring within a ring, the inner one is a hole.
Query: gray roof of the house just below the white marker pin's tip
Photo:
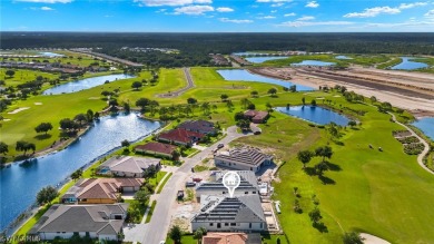
[[[200,197],[201,209],[193,222],[265,222],[258,195]]]

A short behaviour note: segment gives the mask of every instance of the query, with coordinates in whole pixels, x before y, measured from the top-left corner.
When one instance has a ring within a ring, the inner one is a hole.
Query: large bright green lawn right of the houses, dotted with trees
[[[343,100],[338,100],[343,103]],[[402,129],[389,121],[389,116],[376,108],[352,104],[346,106],[366,110],[359,117],[359,130],[345,129],[341,141],[331,143],[335,152],[331,162],[333,170],[325,173],[324,184],[309,176],[296,159],[300,149],[326,145],[329,136],[324,129],[307,126],[302,120],[274,115],[263,126],[263,135],[241,138],[246,143],[272,148],[286,163],[275,183],[275,199],[282,202],[279,221],[292,243],[341,243],[348,231],[366,232],[392,243],[433,243],[431,211],[434,201],[434,177],[424,172],[415,156],[403,153],[392,130]],[[280,141],[279,141],[280,140]],[[369,149],[381,146],[384,152]],[[312,167],[319,159],[315,158]],[[302,214],[294,213],[294,187],[299,188]],[[314,208],[310,199],[316,194],[327,232],[319,232],[307,215]]]

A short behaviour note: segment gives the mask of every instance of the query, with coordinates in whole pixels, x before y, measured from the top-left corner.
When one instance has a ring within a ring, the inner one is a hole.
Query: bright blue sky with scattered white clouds
[[[2,31],[434,31],[434,0],[0,0]]]

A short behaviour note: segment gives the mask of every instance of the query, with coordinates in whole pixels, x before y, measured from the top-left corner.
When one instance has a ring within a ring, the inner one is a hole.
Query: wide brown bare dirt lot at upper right
[[[333,75],[329,70],[324,72],[318,68],[262,68],[250,71],[279,79],[290,78],[290,81],[310,87],[346,86],[365,97],[375,96],[379,101],[388,101],[393,106],[407,109],[417,117],[434,113],[434,91],[430,90],[434,89],[434,76],[430,74],[361,67],[332,71]],[[400,85],[396,85],[398,82]]]

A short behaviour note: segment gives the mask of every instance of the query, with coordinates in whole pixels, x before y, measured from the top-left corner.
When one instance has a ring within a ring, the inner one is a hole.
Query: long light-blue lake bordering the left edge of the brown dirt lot
[[[217,72],[220,74],[220,76],[225,80],[230,80],[230,81],[265,82],[265,84],[273,84],[283,87],[289,87],[296,85],[297,90],[315,90],[315,88],[313,87],[307,87],[307,86],[297,85],[280,79],[255,75],[244,69],[223,69],[223,70],[217,70]]]

